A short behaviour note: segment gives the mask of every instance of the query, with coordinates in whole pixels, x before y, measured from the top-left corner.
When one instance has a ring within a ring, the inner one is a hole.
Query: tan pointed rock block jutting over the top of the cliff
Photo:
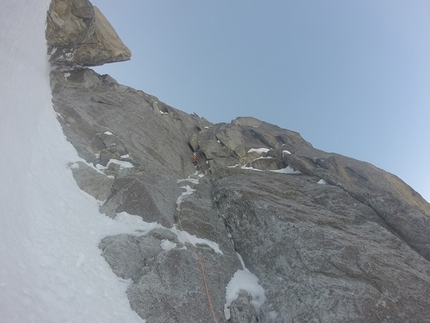
[[[109,21],[88,0],[52,0],[46,22],[53,65],[97,66],[131,57]]]

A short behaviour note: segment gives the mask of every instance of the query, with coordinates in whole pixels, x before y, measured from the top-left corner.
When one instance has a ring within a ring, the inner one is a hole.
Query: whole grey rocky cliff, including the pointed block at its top
[[[137,216],[134,234],[99,247],[132,281],[143,319],[430,322],[430,205],[402,180],[297,132],[251,117],[213,124],[84,68],[131,55],[86,0],[53,1],[47,22],[54,109],[82,157],[70,169],[101,213]],[[265,293],[227,303],[243,265]]]

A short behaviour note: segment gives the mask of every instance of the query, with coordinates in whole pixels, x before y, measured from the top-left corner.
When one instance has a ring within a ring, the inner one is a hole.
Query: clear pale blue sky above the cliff
[[[430,201],[428,0],[92,3],[133,53],[97,72],[214,123],[297,131]]]

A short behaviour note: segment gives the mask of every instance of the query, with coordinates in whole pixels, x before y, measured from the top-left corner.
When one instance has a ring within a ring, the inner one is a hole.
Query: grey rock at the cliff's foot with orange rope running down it
[[[205,239],[193,247],[191,238],[177,227],[157,228],[138,237],[106,237],[100,243],[112,270],[133,280],[128,290],[131,307],[148,322],[212,321],[200,262],[215,315],[225,321],[225,287],[240,262],[229,239],[221,238],[228,233],[212,206],[209,181],[201,179],[199,186],[198,194],[181,203],[181,228],[190,237],[217,241],[217,248]]]

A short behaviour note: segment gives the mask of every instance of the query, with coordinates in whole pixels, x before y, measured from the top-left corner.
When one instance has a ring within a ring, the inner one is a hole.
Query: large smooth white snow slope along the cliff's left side
[[[67,166],[81,159],[52,108],[49,2],[3,0],[0,10],[0,320],[144,322],[98,248],[129,229],[99,213]]]

